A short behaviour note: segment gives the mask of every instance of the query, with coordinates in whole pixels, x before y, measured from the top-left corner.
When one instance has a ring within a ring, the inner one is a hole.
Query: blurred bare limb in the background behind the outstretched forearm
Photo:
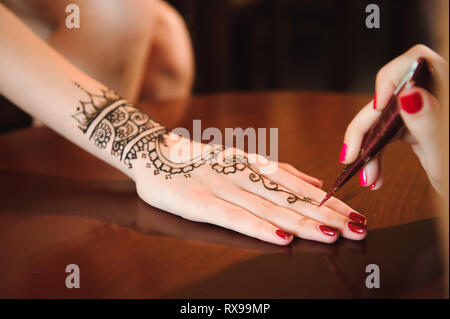
[[[129,101],[184,98],[191,92],[194,78],[191,41],[183,18],[166,2],[133,0],[133,5],[125,0],[1,2],[71,63]],[[72,3],[80,8],[79,29],[68,29],[65,25],[68,15],[65,8]]]

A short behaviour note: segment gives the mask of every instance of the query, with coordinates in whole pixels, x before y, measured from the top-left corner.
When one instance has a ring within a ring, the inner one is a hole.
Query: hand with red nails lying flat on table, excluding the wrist
[[[183,144],[201,148],[199,156],[172,159],[174,148]],[[252,160],[232,148],[208,148],[169,135],[150,143],[149,151],[133,164],[139,196],[183,218],[278,245],[289,244],[292,235],[326,243],[336,241],[339,234],[353,240],[366,236],[365,218],[343,202],[331,198],[317,206],[325,196],[320,180],[287,164],[263,175],[269,162],[262,157]]]

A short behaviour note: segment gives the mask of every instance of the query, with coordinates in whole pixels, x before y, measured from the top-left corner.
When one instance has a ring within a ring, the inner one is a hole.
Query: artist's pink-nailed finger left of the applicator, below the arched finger
[[[373,101],[363,107],[348,125],[339,156],[340,162],[350,164],[358,158],[364,135],[381,115],[381,112],[373,109],[372,104]]]

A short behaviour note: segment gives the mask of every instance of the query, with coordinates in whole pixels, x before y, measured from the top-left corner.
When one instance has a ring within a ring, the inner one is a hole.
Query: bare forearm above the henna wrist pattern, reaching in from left
[[[132,177],[133,171],[126,169],[118,157],[99,149],[86,134],[80,134],[97,119],[102,108],[118,97],[34,35],[2,4],[0,39],[0,93],[59,134]],[[103,95],[106,98],[101,98]],[[91,99],[95,100],[95,106],[89,105]]]

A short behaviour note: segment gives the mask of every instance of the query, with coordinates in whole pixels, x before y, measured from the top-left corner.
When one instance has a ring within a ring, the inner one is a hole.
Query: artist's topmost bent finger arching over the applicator
[[[403,76],[419,57],[427,60],[432,72],[437,78],[437,83],[446,81],[448,77],[448,74],[445,73],[445,70],[448,69],[447,62],[430,48],[420,44],[415,45],[404,54],[383,66],[378,72],[375,83],[377,110],[382,110],[387,105],[387,102],[394,94]]]

